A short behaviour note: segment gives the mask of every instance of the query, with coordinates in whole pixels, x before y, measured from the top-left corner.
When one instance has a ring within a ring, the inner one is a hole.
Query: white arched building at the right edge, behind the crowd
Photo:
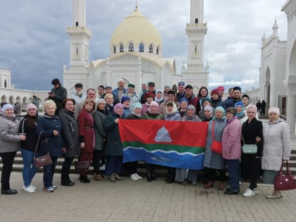
[[[288,0],[282,7],[288,20],[287,41],[278,39],[278,25],[273,24],[273,34],[262,37],[260,68],[260,99],[265,99],[267,109],[276,106],[295,135],[296,110],[296,0]],[[266,111],[267,111],[266,109]]]

